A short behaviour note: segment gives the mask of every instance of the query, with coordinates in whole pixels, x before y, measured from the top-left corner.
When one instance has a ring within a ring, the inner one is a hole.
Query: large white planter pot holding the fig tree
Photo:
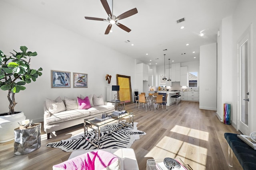
[[[0,143],[14,139],[14,129],[19,127],[18,122],[26,119],[23,112],[0,116]]]

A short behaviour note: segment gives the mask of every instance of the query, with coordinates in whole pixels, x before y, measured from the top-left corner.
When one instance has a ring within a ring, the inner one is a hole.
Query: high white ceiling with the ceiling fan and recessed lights
[[[130,33],[113,25],[113,32],[104,35],[108,22],[84,18],[107,19],[100,0],[4,1],[145,64],[158,65],[164,64],[164,54],[166,64],[168,59],[173,63],[199,60],[200,46],[217,42],[221,20],[230,16],[238,3],[238,0],[114,0],[115,16],[132,8],[137,8],[138,13],[119,21],[132,29]],[[177,24],[176,20],[181,18],[185,21]],[[180,29],[181,26],[185,28]]]

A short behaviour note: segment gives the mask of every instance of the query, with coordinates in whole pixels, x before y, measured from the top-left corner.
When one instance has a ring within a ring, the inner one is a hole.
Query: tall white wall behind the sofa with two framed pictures
[[[16,7],[0,1],[0,50],[10,54],[25,45],[36,51],[31,68],[43,68],[43,75],[36,82],[26,84],[26,90],[15,95],[16,111],[24,111],[28,119],[43,121],[43,101],[58,96],[76,98],[82,94],[102,94],[106,100],[106,74],[112,75],[111,85],[116,85],[116,74],[131,76],[135,83],[135,63],[132,57],[113,51],[54,23],[42,20]],[[99,50],[100,49],[100,50]],[[126,63],[122,69],[116,65]],[[51,88],[50,71],[59,70],[88,74],[88,88]],[[9,111],[7,91],[0,90],[0,113]]]

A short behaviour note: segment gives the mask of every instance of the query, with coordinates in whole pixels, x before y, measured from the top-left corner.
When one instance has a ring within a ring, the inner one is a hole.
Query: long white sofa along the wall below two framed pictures
[[[57,99],[59,99],[59,101]],[[60,97],[58,97],[57,99],[53,102],[57,101],[61,103]],[[103,103],[98,106],[94,106],[92,104],[92,107],[88,109],[78,109],[78,108],[72,109],[72,107],[70,109],[69,107],[70,105],[68,106],[68,102],[66,102],[67,98],[65,97],[64,102],[61,100],[63,102],[62,108],[59,109],[58,111],[53,112],[52,110],[50,111],[48,110],[49,106],[47,107],[47,105],[49,104],[46,104],[47,101],[49,100],[46,99],[46,101],[44,101],[44,131],[47,133],[47,139],[50,139],[51,132],[72,127],[74,125],[82,124],[84,123],[84,119],[86,118],[96,117],[98,115],[101,115],[103,112],[110,113],[115,110],[115,106],[112,103],[104,102],[104,101],[103,101],[104,105]],[[75,102],[75,100],[73,102]],[[52,105],[54,107],[58,106],[54,104]],[[73,108],[76,108],[76,107],[73,107]]]

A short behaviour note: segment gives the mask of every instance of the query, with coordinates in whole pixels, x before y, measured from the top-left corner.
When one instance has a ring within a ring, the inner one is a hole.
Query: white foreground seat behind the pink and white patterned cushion
[[[101,149],[107,152],[110,152],[116,155],[121,162],[121,170],[139,170],[138,162],[134,153],[134,150],[131,148],[122,148],[122,149]],[[79,156],[81,154],[85,154],[87,152],[91,152],[94,150],[76,150],[73,151],[68,160]]]

